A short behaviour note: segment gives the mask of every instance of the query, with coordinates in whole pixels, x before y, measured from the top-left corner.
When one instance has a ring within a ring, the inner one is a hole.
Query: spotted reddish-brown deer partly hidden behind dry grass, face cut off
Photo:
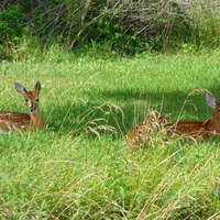
[[[205,121],[167,121],[162,114],[151,114],[146,117],[142,123],[134,128],[128,138],[135,144],[144,140],[148,134],[151,128],[160,129],[161,124],[166,130],[167,135],[183,135],[194,139],[201,138],[208,140],[213,135],[220,135],[220,103],[217,103],[216,97],[206,91],[206,102],[213,109],[212,114]]]

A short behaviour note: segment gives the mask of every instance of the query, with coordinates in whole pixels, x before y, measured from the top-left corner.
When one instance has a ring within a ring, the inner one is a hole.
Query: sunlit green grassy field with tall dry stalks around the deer
[[[132,152],[124,141],[150,109],[208,118],[205,94],[193,91],[220,100],[218,53],[57,59],[0,66],[0,110],[26,112],[13,82],[32,90],[41,80],[48,123],[1,133],[0,219],[220,218],[219,138],[155,138]]]

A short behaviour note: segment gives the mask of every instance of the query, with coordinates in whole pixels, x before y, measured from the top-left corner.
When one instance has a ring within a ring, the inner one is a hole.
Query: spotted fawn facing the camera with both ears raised
[[[23,86],[15,82],[15,90],[24,97],[29,113],[20,112],[0,112],[1,131],[21,131],[21,130],[43,130],[46,123],[38,110],[38,95],[41,82],[37,80],[35,90],[28,91]]]

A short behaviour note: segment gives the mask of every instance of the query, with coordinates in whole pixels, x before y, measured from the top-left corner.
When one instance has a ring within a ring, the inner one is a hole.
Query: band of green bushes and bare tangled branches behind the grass
[[[21,59],[36,45],[46,53],[54,44],[74,53],[94,44],[120,55],[197,52],[219,47],[219,24],[218,1],[6,0],[0,61]]]

